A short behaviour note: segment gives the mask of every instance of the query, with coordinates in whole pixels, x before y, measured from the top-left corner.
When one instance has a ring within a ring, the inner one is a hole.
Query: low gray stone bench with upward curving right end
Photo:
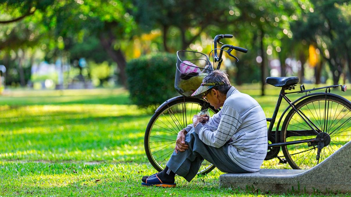
[[[348,193],[351,192],[351,141],[309,170],[260,169],[255,173],[228,173],[219,176],[219,185],[272,193]]]

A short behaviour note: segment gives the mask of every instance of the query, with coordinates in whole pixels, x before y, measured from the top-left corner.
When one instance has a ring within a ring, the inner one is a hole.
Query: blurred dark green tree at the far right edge
[[[351,50],[347,42],[350,42],[350,22],[340,9],[340,5],[346,6],[347,2],[312,0],[309,9],[306,3],[300,3],[301,9],[304,10],[302,20],[292,23],[294,37],[306,40],[319,49],[320,55],[332,71],[334,84],[338,84],[345,65],[343,62],[347,59],[347,51]]]

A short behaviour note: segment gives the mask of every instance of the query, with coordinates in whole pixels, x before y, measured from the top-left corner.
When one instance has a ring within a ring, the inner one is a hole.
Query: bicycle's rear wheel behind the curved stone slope
[[[295,107],[318,127],[315,129],[319,132],[319,136],[323,136],[326,140],[326,146],[320,153],[319,163],[351,140],[351,105],[345,100],[324,94],[308,97]],[[317,134],[312,133],[310,129],[296,111],[291,109],[282,126],[281,140],[287,142],[317,138]],[[322,135],[322,132],[327,134]],[[330,142],[327,145],[328,140]],[[293,169],[310,169],[318,164],[317,158],[313,159],[318,151],[316,142],[282,146],[282,150],[285,159]]]

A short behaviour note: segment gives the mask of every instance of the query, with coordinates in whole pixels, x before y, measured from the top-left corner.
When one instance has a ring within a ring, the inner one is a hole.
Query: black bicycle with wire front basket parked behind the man
[[[235,58],[237,62],[239,59],[232,55],[231,51],[234,49],[247,52],[244,48],[220,42],[222,38],[231,37],[233,36],[230,34],[220,34],[214,38],[214,49],[211,52],[214,51],[213,63],[218,62],[216,69],[220,68],[223,61],[223,51]],[[217,43],[222,44],[221,48],[217,49]],[[225,50],[226,48],[228,49]],[[219,55],[217,50],[220,50]],[[220,110],[214,109],[201,97],[191,97],[192,92],[202,83],[202,78],[213,71],[208,57],[200,52],[185,50],[177,51],[177,57],[175,88],[181,96],[166,100],[157,108],[146,127],[144,136],[147,158],[158,171],[163,170],[173,153],[178,132],[191,123],[194,114],[207,109],[212,116]],[[184,64],[191,66],[186,68],[190,68],[188,71],[193,72],[184,74],[182,72],[184,68],[181,68]],[[330,89],[336,87],[341,87],[345,92],[346,85],[331,85],[308,90],[301,85],[300,91],[286,92],[286,90],[294,90],[298,82],[298,77],[266,78],[267,84],[282,89],[272,118],[266,118],[270,125],[267,129],[268,150],[265,160],[277,158],[280,163],[289,163],[293,169],[310,169],[350,141],[351,102],[330,93]],[[311,93],[322,89],[325,91]],[[286,95],[292,93],[305,93],[305,95],[291,101]],[[273,125],[276,123],[283,99],[289,106],[280,116],[274,132]],[[285,117],[284,120],[283,117]],[[280,124],[282,124],[281,127]],[[278,156],[280,149],[284,156]],[[314,157],[315,159],[312,160]],[[198,174],[207,174],[214,168],[211,163],[204,161]]]

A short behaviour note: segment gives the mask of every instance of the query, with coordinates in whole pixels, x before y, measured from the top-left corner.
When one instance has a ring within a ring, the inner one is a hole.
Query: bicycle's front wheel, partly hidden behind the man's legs
[[[147,159],[152,166],[161,171],[166,167],[168,159],[176,147],[178,132],[192,123],[192,118],[205,109],[206,102],[196,98],[175,100],[155,112],[148,123],[144,137],[144,147]],[[217,113],[214,107],[208,108],[210,115]],[[198,174],[207,174],[213,164],[204,161]]]

